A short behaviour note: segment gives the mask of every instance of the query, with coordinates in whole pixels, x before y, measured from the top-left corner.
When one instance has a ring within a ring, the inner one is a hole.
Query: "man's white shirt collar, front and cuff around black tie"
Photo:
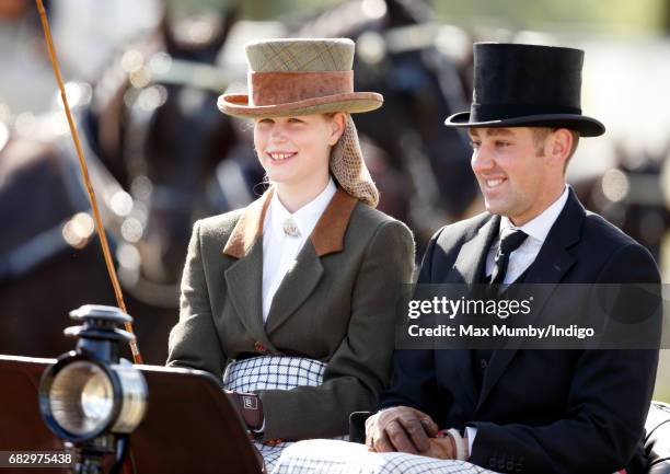
[[[558,219],[561,211],[565,207],[565,203],[567,203],[568,198],[568,187],[567,185],[563,189],[558,199],[554,201],[550,207],[544,209],[542,213],[534,219],[531,219],[527,223],[521,227],[517,227],[509,220],[506,216],[500,218],[500,230],[498,232],[498,239],[490,246],[488,251],[488,255],[486,256],[486,275],[489,276],[493,273],[493,268],[496,261],[496,253],[498,252],[498,245],[500,244],[500,236],[503,235],[503,231],[505,229],[520,229],[528,234],[528,238],[523,243],[513,251],[509,255],[509,265],[507,266],[507,273],[505,274],[505,279],[503,282],[505,285],[509,285],[519,278],[523,271],[531,266],[531,264],[535,261],[535,257],[540,253],[540,248],[544,244],[546,236],[552,230],[554,222]],[[467,444],[470,448],[470,453],[472,455],[472,443],[474,442],[475,436],[477,436],[477,429],[467,426],[465,427],[465,432],[467,436]]]

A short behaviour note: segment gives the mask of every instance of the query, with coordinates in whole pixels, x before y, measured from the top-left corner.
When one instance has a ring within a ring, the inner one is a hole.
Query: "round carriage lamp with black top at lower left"
[[[120,345],[135,336],[119,326],[132,319],[114,307],[86,304],[70,312],[81,322],[65,330],[77,337],[76,350],[47,368],[39,384],[39,411],[48,428],[73,447],[91,472],[102,459],[125,458],[127,436],[147,409],[147,383],[130,362],[119,358]]]

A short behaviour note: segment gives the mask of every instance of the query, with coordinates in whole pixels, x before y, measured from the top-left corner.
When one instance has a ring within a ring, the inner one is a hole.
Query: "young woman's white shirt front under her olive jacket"
[[[267,321],[275,293],[281,280],[296,264],[298,253],[309,239],[319,218],[337,190],[333,178],[314,199],[292,215],[284,207],[277,193],[273,194],[263,221],[263,321]],[[292,219],[299,236],[284,232],[286,219]]]

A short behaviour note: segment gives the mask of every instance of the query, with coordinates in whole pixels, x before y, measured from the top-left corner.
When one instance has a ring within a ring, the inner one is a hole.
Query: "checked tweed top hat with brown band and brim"
[[[219,109],[238,117],[288,116],[379,108],[383,97],[354,92],[354,42],[284,38],[249,43],[249,94],[223,94]]]

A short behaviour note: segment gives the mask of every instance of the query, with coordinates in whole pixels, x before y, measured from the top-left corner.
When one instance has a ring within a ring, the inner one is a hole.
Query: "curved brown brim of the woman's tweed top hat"
[[[351,92],[326,95],[299,102],[254,106],[249,104],[249,94],[223,94],[219,96],[219,111],[234,117],[286,117],[290,115],[327,114],[347,112],[359,114],[381,107],[384,97],[376,92]]]

